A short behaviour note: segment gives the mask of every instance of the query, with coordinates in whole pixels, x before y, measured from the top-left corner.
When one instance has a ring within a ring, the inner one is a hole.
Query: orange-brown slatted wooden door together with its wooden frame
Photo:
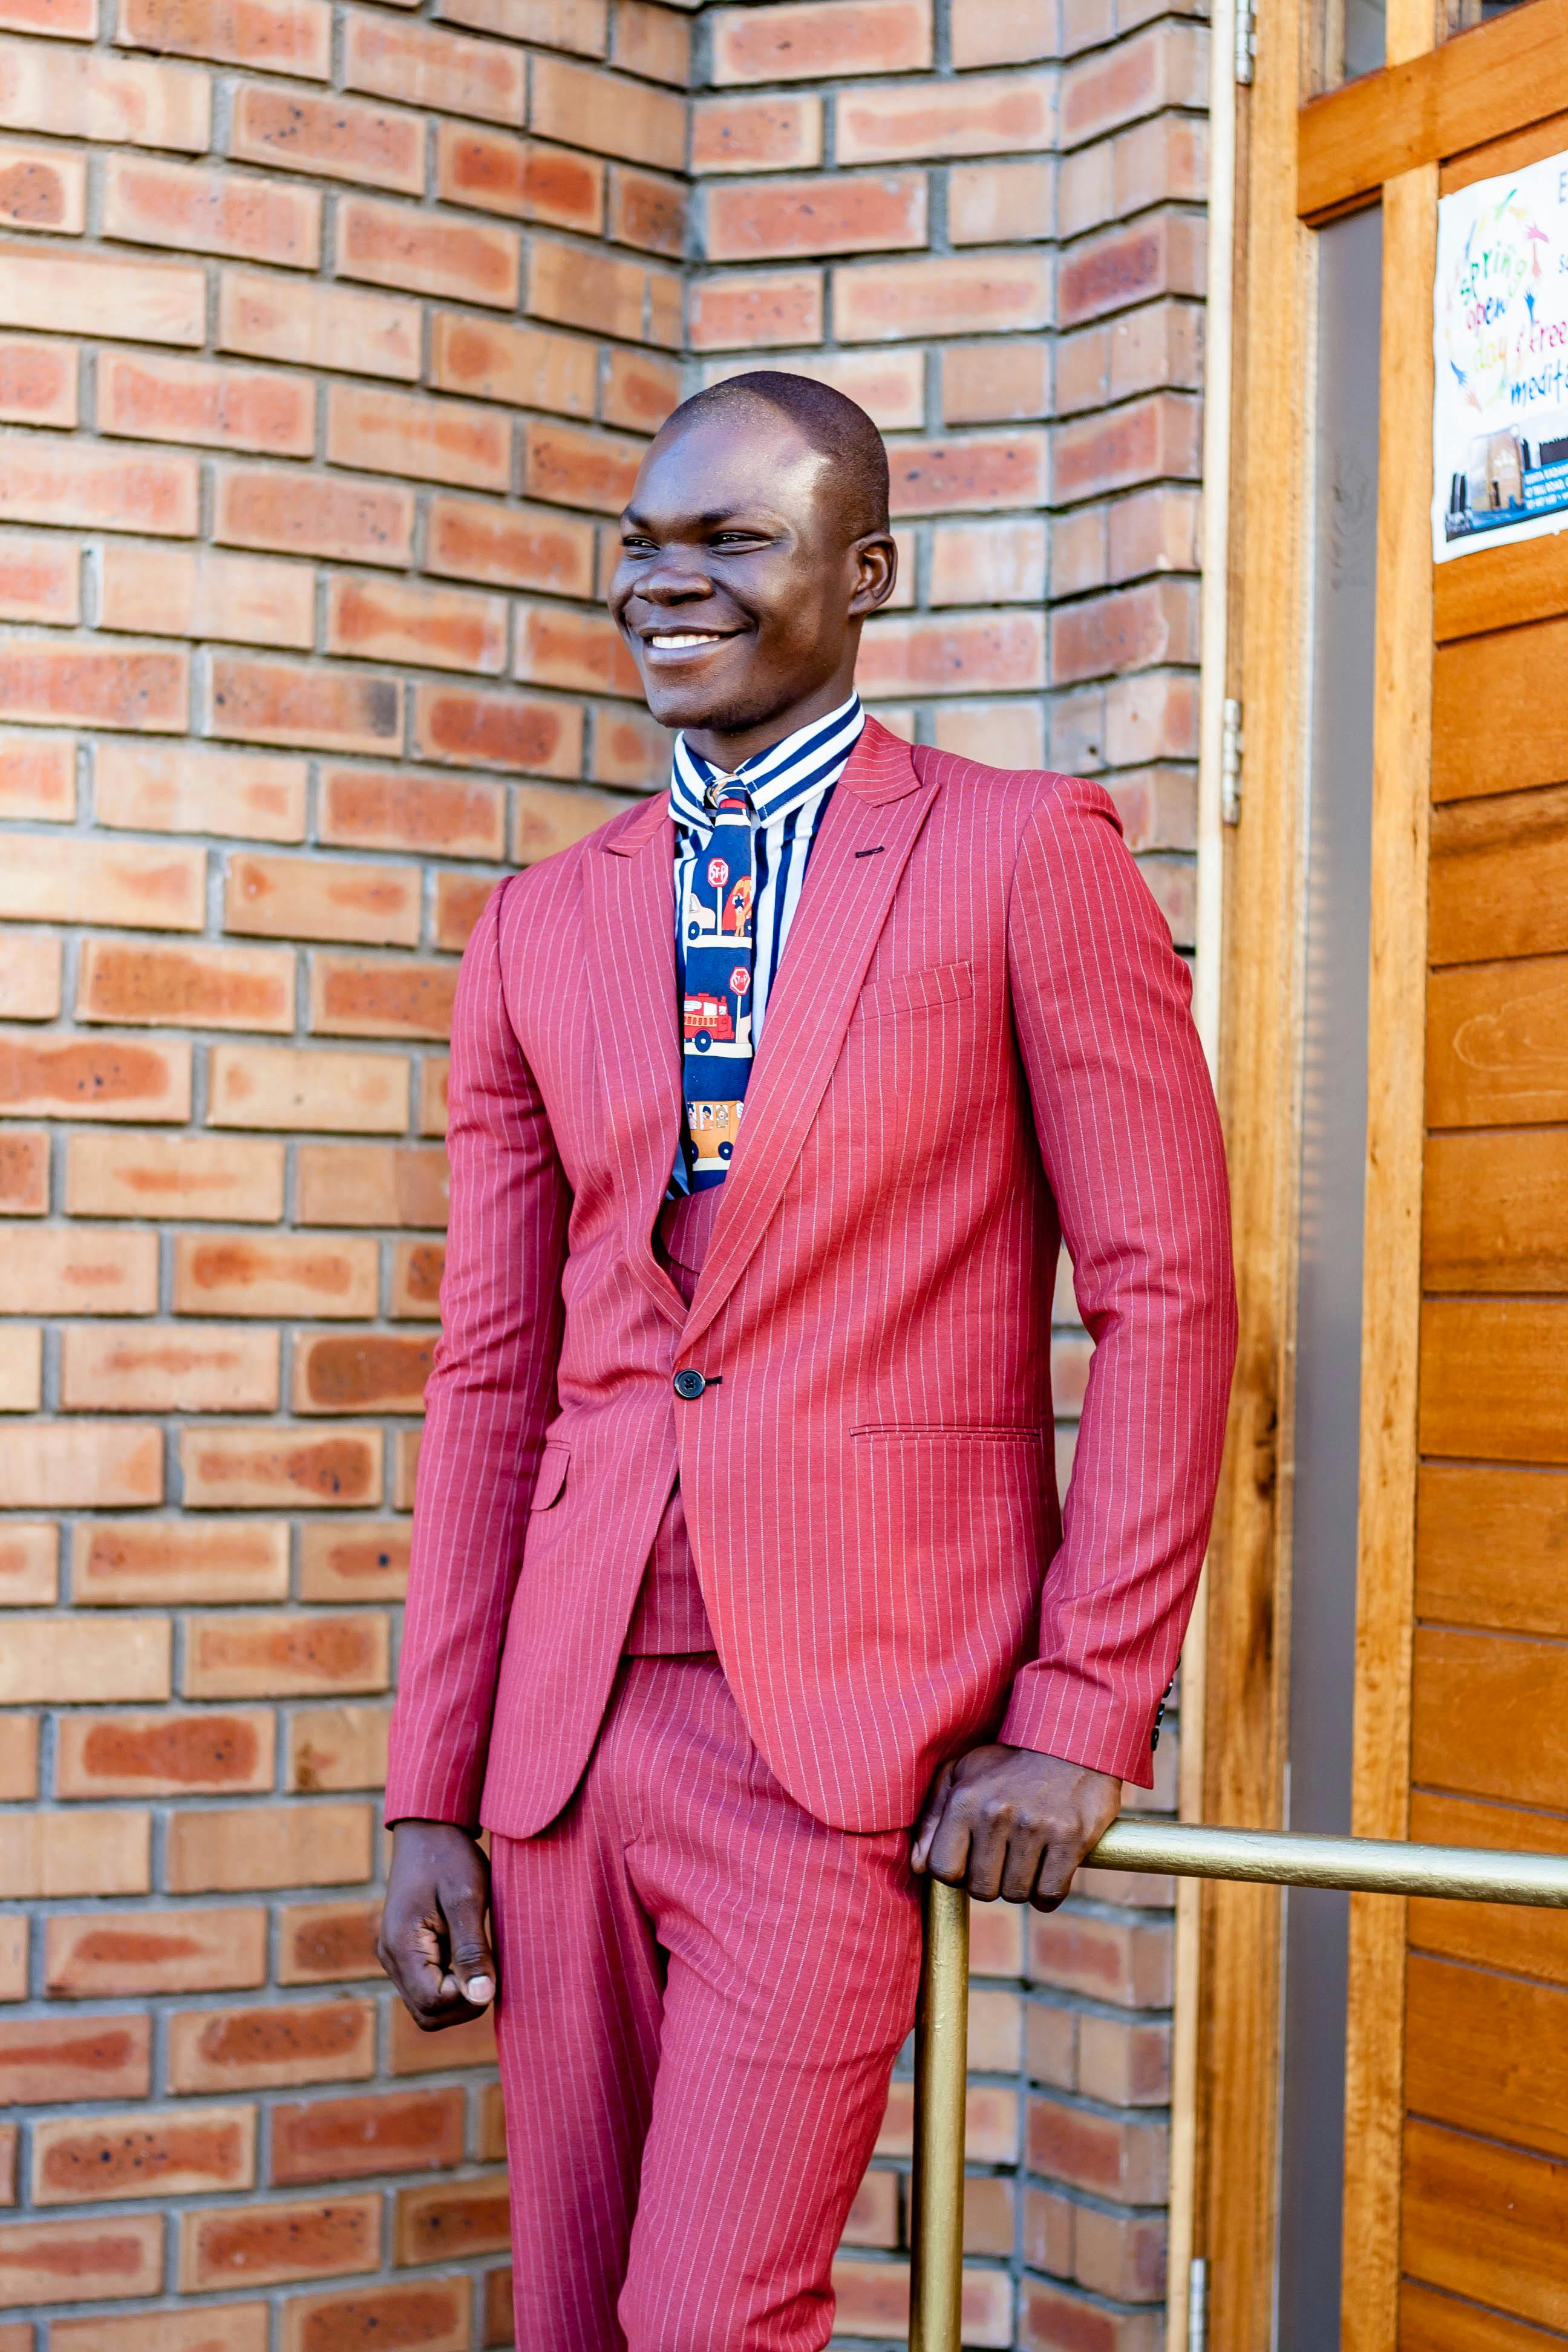
[[[1244,1334],[1211,1564],[1204,1809],[1284,1818],[1291,1585],[1312,1569],[1291,1559],[1305,388],[1314,235],[1378,202],[1352,1828],[1563,1853],[1568,532],[1434,564],[1429,503],[1439,195],[1568,158],[1568,0],[1528,0],[1446,42],[1443,28],[1432,0],[1389,0],[1389,64],[1309,101],[1321,12],[1281,0],[1260,19],[1248,101],[1227,677],[1246,769],[1222,1040]],[[1279,1900],[1208,1891],[1201,1950],[1194,2253],[1208,2263],[1208,2347],[1269,2352]],[[1342,2279],[1345,2352],[1561,2352],[1568,1917],[1352,1903]]]

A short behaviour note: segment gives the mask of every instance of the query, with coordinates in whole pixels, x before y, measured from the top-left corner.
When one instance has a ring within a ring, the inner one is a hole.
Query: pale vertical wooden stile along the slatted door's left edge
[[[1410,26],[1403,26],[1410,38]],[[1361,1275],[1361,1479],[1352,1830],[1406,1837],[1425,1136],[1427,844],[1432,764],[1432,336],[1436,172],[1382,193],[1378,661]],[[1399,2310],[1403,1905],[1349,1905],[1340,2340],[1385,2352]]]

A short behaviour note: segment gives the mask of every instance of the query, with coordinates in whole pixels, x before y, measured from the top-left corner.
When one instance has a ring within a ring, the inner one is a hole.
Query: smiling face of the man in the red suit
[[[654,717],[733,739],[832,710],[896,569],[886,534],[846,529],[832,461],[788,416],[736,405],[661,435],[609,586]]]

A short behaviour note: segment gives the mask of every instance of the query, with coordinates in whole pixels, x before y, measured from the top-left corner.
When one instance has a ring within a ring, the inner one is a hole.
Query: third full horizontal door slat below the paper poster
[[[1427,1127],[1547,1122],[1568,1122],[1568,957],[1434,971]]]

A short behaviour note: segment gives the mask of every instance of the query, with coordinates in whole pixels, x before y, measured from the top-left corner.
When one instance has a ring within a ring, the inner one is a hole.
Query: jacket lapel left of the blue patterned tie
[[[682,1324],[686,1305],[651,1244],[682,1115],[675,826],[663,795],[585,858],[585,896],[588,985],[597,990],[597,1061],[625,1254],[654,1305]]]

